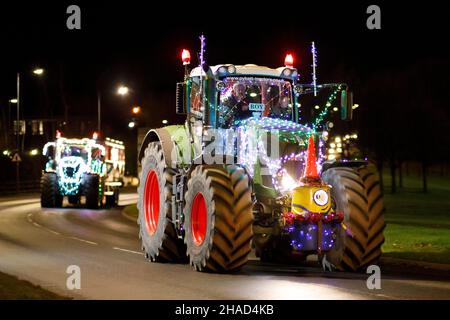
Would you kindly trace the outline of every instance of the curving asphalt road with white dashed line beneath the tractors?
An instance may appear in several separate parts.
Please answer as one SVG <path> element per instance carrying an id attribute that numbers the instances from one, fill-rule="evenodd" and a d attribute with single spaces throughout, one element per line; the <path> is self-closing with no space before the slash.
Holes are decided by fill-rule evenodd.
<path id="1" fill-rule="evenodd" d="M 136 201 L 121 195 L 120 204 Z M 39 198 L 0 199 L 0 271 L 78 299 L 450 299 L 450 280 L 389 273 L 369 290 L 367 275 L 310 266 L 262 264 L 238 274 L 199 273 L 188 265 L 150 263 L 138 227 L 120 209 L 41 209 Z M 81 289 L 68 290 L 67 267 L 81 268 Z"/>

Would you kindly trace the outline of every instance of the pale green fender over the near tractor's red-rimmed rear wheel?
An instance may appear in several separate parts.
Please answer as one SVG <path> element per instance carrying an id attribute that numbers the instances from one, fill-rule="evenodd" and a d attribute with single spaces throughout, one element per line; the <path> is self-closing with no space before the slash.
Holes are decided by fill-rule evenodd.
<path id="1" fill-rule="evenodd" d="M 186 162 L 184 155 L 190 155 L 187 144 L 188 138 L 184 126 L 167 126 L 152 129 L 145 135 L 139 150 L 139 162 L 144 157 L 145 149 L 150 142 L 159 142 L 164 154 L 166 165 L 175 168 L 179 162 Z"/>

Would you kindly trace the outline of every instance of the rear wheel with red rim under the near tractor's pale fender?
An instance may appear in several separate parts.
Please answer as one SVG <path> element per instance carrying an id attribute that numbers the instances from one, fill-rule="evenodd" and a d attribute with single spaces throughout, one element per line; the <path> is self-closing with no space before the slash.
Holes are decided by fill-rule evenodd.
<path id="1" fill-rule="evenodd" d="M 186 246 L 172 222 L 176 171 L 166 165 L 159 142 L 149 143 L 141 163 L 137 222 L 145 256 L 153 262 L 185 262 Z"/>

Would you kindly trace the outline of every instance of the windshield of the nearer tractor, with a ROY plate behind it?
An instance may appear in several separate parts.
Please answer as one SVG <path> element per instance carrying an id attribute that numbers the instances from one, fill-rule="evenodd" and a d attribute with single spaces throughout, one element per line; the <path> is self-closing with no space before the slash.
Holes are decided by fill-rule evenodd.
<path id="1" fill-rule="evenodd" d="M 221 127 L 250 117 L 292 119 L 291 83 L 286 80 L 225 78 L 219 99 Z"/>

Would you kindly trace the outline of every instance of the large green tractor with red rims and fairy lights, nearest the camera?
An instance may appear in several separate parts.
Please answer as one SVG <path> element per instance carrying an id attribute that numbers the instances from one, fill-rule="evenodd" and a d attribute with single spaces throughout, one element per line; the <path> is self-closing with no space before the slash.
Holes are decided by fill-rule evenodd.
<path id="1" fill-rule="evenodd" d="M 202 42 L 203 44 L 203 42 Z M 189 261 L 195 270 L 233 272 L 252 249 L 262 261 L 317 255 L 327 270 L 376 263 L 384 242 L 378 174 L 367 161 L 327 161 L 319 124 L 345 84 L 302 85 L 285 67 L 200 65 L 177 84 L 186 122 L 150 130 L 139 160 L 142 250 L 156 262 Z M 314 123 L 302 124 L 300 101 L 330 90 Z"/>

